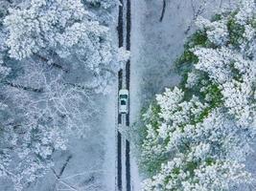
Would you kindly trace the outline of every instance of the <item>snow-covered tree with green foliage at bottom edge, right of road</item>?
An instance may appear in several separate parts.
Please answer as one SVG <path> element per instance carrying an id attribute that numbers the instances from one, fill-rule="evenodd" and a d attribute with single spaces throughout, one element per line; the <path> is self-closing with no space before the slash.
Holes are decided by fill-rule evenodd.
<path id="1" fill-rule="evenodd" d="M 206 149 L 205 149 L 206 148 Z M 244 171 L 244 165 L 232 160 L 198 161 L 199 157 L 207 155 L 207 145 L 198 145 L 197 155 L 191 153 L 194 159 L 179 155 L 163 164 L 160 172 L 151 180 L 142 184 L 144 191 L 177 190 L 177 191 L 207 191 L 227 190 L 229 183 L 240 183 L 241 180 L 251 180 Z"/>

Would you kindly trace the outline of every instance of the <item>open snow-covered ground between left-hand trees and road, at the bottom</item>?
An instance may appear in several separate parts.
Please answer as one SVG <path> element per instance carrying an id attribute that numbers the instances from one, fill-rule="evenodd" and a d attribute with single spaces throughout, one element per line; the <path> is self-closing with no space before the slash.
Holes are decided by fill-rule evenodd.
<path id="1" fill-rule="evenodd" d="M 115 182 L 115 97 L 99 98 L 104 113 L 90 122 L 91 131 L 85 138 L 71 137 L 67 151 L 57 152 L 53 168 L 57 174 L 68 161 L 60 179 L 53 171 L 31 185 L 27 191 L 114 190 Z"/>

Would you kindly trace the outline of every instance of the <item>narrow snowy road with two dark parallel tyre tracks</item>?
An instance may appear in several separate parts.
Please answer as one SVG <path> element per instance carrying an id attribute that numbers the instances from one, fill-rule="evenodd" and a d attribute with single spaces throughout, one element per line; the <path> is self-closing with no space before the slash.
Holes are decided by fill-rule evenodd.
<path id="1" fill-rule="evenodd" d="M 119 6 L 119 17 L 118 17 L 118 41 L 119 48 L 125 47 L 130 51 L 130 30 L 131 30 L 131 15 L 130 15 L 130 0 L 120 0 L 121 5 Z M 126 44 L 125 44 L 125 43 Z M 129 90 L 129 77 L 130 77 L 130 60 L 126 64 L 124 70 L 120 70 L 118 73 L 118 91 L 121 89 Z M 118 95 L 118 93 L 117 93 Z M 117 100 L 118 104 L 119 100 Z M 129 111 L 128 101 L 128 111 Z M 119 104 L 118 104 L 119 105 Z M 129 127 L 129 113 L 127 115 L 117 114 L 117 167 L 116 167 L 116 191 L 130 191 L 130 147 L 129 141 L 125 132 Z"/>

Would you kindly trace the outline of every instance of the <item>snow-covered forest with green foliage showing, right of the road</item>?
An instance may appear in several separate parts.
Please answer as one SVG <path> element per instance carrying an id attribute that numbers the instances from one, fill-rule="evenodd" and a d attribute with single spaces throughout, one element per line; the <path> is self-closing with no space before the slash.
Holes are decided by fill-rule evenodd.
<path id="1" fill-rule="evenodd" d="M 197 31 L 175 61 L 179 85 L 157 94 L 141 117 L 140 165 L 149 176 L 142 190 L 255 183 L 245 165 L 255 152 L 255 8 L 244 0 L 196 19 Z"/>

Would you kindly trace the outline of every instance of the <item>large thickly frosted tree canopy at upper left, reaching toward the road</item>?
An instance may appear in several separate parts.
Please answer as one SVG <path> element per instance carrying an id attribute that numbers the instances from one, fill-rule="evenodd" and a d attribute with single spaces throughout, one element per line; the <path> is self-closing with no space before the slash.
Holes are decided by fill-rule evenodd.
<path id="1" fill-rule="evenodd" d="M 109 29 L 95 13 L 85 10 L 81 0 L 32 0 L 10 12 L 5 26 L 12 57 L 47 55 L 51 64 L 50 55 L 56 54 L 71 65 L 83 63 L 91 78 L 88 85 L 99 88 L 98 92 L 112 82 L 119 68 L 114 61 L 118 51 L 112 46 Z"/>

